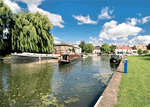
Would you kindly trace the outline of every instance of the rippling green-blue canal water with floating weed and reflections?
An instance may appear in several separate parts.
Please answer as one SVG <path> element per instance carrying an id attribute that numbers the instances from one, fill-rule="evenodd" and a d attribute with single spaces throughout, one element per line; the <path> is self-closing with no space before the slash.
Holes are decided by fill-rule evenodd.
<path id="1" fill-rule="evenodd" d="M 0 62 L 0 105 L 93 107 L 118 65 L 93 56 L 70 65 L 58 62 Z"/>

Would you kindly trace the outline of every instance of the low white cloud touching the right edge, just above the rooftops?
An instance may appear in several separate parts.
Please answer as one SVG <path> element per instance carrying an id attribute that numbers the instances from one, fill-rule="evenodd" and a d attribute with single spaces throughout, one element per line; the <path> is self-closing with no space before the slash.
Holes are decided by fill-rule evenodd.
<path id="1" fill-rule="evenodd" d="M 129 40 L 130 44 L 143 44 L 143 45 L 147 45 L 150 43 L 150 35 L 139 35 L 137 37 L 133 37 L 131 40 Z"/>

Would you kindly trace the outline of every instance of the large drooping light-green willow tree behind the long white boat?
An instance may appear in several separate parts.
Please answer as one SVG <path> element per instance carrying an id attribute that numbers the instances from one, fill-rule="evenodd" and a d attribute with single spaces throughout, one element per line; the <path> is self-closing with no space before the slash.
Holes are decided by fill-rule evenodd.
<path id="1" fill-rule="evenodd" d="M 13 25 L 12 50 L 50 53 L 53 49 L 52 24 L 47 15 L 20 12 L 14 15 Z"/>

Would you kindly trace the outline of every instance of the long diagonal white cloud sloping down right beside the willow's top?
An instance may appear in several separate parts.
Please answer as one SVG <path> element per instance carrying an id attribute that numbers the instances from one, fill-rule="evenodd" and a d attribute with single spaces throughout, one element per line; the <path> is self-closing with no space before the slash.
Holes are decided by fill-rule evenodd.
<path id="1" fill-rule="evenodd" d="M 62 25 L 62 23 L 64 23 L 64 21 L 62 20 L 61 15 L 53 14 L 48 11 L 44 11 L 44 10 L 38 8 L 37 5 L 34 5 L 34 4 L 28 5 L 28 9 L 30 12 L 33 12 L 33 13 L 39 11 L 40 13 L 47 15 L 48 19 L 54 26 L 59 26 L 60 28 L 64 28 L 64 26 Z"/>

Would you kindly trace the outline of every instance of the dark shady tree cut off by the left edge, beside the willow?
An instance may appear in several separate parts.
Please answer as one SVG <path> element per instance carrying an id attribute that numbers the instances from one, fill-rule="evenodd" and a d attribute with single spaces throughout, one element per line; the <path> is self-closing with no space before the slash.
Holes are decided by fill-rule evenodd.
<path id="1" fill-rule="evenodd" d="M 7 53 L 11 53 L 11 27 L 12 27 L 12 11 L 0 0 L 0 56 Z M 3 32 L 7 30 L 7 33 Z M 3 40 L 7 38 L 7 41 Z"/>

